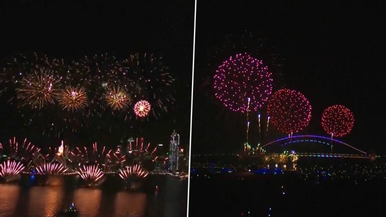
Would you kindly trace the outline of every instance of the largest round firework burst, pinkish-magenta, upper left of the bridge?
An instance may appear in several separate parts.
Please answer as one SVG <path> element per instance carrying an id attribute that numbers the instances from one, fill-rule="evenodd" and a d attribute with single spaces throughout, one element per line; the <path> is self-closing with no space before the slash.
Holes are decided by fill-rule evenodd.
<path id="1" fill-rule="evenodd" d="M 232 111 L 257 111 L 272 93 L 271 75 L 262 61 L 238 54 L 216 70 L 215 96 Z"/>

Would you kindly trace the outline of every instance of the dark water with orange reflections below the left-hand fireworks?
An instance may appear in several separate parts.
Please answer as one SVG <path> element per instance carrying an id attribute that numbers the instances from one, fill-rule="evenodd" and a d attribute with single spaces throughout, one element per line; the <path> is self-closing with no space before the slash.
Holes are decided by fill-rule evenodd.
<path id="1" fill-rule="evenodd" d="M 136 192 L 114 185 L 115 181 L 109 177 L 98 188 L 76 187 L 73 178 L 65 177 L 52 177 L 48 186 L 0 184 L 0 216 L 53 217 L 71 202 L 79 209 L 79 217 L 186 216 L 187 180 L 150 175 Z"/>

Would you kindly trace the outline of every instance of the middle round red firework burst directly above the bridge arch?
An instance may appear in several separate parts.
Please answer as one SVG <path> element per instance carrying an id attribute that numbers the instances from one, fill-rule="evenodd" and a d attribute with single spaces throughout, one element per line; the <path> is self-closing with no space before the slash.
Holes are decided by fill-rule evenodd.
<path id="1" fill-rule="evenodd" d="M 310 123 L 311 105 L 302 93 L 282 89 L 272 95 L 267 113 L 278 130 L 292 134 L 304 129 Z"/>

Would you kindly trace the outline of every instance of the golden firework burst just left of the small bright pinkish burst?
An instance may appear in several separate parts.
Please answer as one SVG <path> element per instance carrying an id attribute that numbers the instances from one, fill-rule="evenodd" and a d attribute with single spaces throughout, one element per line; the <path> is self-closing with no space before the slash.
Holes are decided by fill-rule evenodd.
<path id="1" fill-rule="evenodd" d="M 129 94 L 123 89 L 118 87 L 112 87 L 107 90 L 106 93 L 107 105 L 113 110 L 126 109 L 131 102 Z"/>

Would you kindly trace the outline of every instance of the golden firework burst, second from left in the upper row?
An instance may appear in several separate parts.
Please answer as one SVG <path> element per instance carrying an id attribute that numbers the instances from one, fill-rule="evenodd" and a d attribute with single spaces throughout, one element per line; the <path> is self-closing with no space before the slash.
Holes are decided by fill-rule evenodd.
<path id="1" fill-rule="evenodd" d="M 68 111 L 79 110 L 87 106 L 87 94 L 82 88 L 67 87 L 59 94 L 58 102 Z"/>

